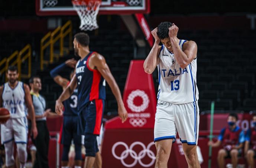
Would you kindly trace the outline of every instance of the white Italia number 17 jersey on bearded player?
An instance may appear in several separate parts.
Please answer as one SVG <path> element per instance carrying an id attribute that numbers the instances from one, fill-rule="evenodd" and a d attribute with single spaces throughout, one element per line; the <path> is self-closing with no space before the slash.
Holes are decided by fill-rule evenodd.
<path id="1" fill-rule="evenodd" d="M 18 82 L 16 87 L 12 89 L 8 82 L 4 83 L 2 94 L 3 107 L 8 109 L 11 118 L 20 118 L 25 114 L 25 91 L 23 82 Z"/>

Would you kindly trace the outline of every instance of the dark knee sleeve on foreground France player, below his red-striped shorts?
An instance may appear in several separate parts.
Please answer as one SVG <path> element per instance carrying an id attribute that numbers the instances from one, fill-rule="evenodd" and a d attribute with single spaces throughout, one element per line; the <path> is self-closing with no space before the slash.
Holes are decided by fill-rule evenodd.
<path id="1" fill-rule="evenodd" d="M 85 156 L 95 157 L 96 148 L 95 148 L 96 135 L 85 134 Z"/>

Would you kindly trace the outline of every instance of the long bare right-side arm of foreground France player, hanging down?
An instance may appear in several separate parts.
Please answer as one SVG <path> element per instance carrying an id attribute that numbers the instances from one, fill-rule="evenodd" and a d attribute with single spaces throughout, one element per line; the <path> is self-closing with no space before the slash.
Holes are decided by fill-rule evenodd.
<path id="1" fill-rule="evenodd" d="M 125 120 L 128 118 L 128 114 L 124 107 L 124 102 L 122 101 L 119 87 L 116 84 L 115 78 L 110 72 L 108 65 L 106 64 L 105 58 L 98 53 L 95 53 L 90 58 L 89 67 L 91 69 L 96 68 L 101 73 L 106 82 L 108 82 L 108 85 L 111 88 L 112 93 L 114 94 L 118 104 L 118 115 L 122 119 L 122 122 L 125 122 Z"/>

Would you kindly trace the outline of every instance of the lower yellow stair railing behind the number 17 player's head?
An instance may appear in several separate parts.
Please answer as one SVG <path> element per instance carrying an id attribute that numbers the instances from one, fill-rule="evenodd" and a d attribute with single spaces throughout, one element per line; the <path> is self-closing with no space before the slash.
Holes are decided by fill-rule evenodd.
<path id="1" fill-rule="evenodd" d="M 24 55 L 24 53 L 26 53 L 26 55 Z M 1 60 L 0 67 L 4 64 L 5 64 L 5 66 L 0 70 L 0 75 L 4 74 L 4 72 L 6 72 L 9 65 L 17 65 L 18 73 L 20 74 L 19 80 L 21 78 L 30 78 L 31 77 L 31 56 L 32 56 L 31 45 L 29 45 L 29 44 L 27 44 L 22 50 L 20 50 L 20 52 L 18 50 L 16 50 L 14 53 L 12 53 L 12 55 Z M 13 59 L 15 59 L 15 60 L 12 62 Z M 27 71 L 27 74 L 23 74 L 21 71 L 22 63 L 26 59 L 28 59 L 28 71 Z M 5 78 L 5 80 L 7 81 L 7 78 Z"/>

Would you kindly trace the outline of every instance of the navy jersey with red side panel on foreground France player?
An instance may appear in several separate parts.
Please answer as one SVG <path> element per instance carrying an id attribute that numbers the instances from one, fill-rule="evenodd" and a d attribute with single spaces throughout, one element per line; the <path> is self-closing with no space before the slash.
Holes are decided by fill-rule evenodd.
<path id="1" fill-rule="evenodd" d="M 78 111 L 81 111 L 88 102 L 106 99 L 105 79 L 98 70 L 89 67 L 89 59 L 93 54 L 95 52 L 90 52 L 76 64 Z"/>

